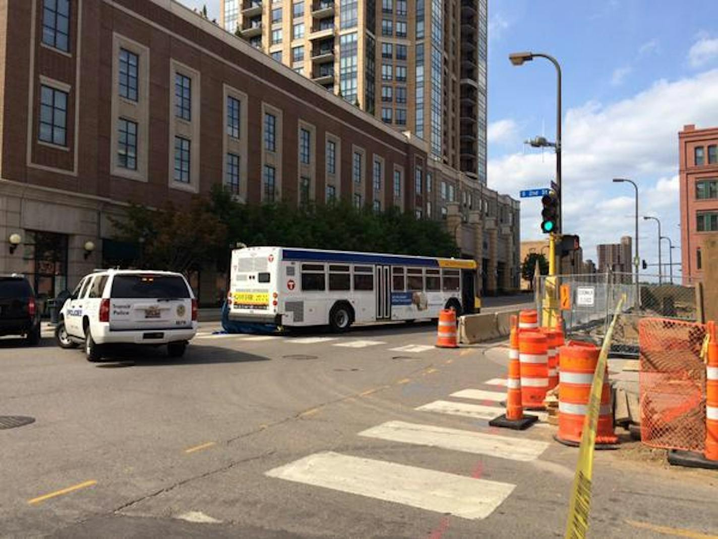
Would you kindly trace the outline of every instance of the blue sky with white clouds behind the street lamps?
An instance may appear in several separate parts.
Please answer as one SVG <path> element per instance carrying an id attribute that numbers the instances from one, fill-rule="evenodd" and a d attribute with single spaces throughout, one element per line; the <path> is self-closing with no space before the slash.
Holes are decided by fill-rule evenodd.
<path id="1" fill-rule="evenodd" d="M 182 1 L 219 17 L 219 0 Z M 715 0 L 489 0 L 489 19 L 489 185 L 518 198 L 554 178 L 554 155 L 523 144 L 554 139 L 554 68 L 508 61 L 548 52 L 564 78 L 564 231 L 594 260 L 596 244 L 633 235 L 633 188 L 611 183 L 623 176 L 639 185 L 641 213 L 679 245 L 677 132 L 718 125 Z M 539 206 L 521 203 L 524 240 L 542 237 Z M 640 222 L 640 241 L 656 262 L 655 223 Z"/>

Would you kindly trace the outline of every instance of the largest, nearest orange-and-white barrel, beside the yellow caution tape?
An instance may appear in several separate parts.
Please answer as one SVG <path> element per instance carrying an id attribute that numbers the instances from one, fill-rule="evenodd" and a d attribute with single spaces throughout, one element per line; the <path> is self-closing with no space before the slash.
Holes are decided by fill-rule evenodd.
<path id="1" fill-rule="evenodd" d="M 555 438 L 567 446 L 578 446 L 588 413 L 591 384 L 601 349 L 589 343 L 569 341 L 559 349 L 559 432 Z M 612 449 L 618 438 L 613 433 L 613 408 L 606 368 L 596 430 L 596 448 Z"/>

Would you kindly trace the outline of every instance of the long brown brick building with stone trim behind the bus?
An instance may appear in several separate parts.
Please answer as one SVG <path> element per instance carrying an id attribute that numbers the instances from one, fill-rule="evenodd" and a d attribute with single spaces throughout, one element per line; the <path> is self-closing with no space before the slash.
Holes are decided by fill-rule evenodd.
<path id="1" fill-rule="evenodd" d="M 113 218 L 129 202 L 182 205 L 218 183 L 246 203 L 445 218 L 485 293 L 518 287 L 518 201 L 182 4 L 9 0 L 0 20 L 0 236 L 21 239 L 0 272 L 40 294 L 122 263 Z M 204 303 L 221 280 L 193 277 Z"/>

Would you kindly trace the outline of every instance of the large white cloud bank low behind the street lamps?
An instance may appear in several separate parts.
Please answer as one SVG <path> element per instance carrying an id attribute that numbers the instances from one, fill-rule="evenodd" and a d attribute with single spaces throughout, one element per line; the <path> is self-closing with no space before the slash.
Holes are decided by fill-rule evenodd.
<path id="1" fill-rule="evenodd" d="M 581 236 L 584 258 L 596 259 L 596 244 L 633 235 L 633 188 L 613 184 L 616 177 L 638 183 L 641 214 L 661 216 L 663 234 L 679 244 L 677 133 L 684 124 L 711 126 L 716 118 L 718 69 L 671 82 L 659 80 L 622 101 L 589 101 L 566 112 L 564 231 Z M 549 185 L 555 167 L 548 152 L 491 157 L 488 181 L 490 187 L 516 197 L 521 189 Z M 541 238 L 540 207 L 538 200 L 522 199 L 522 239 Z M 650 260 L 656 258 L 656 241 L 655 231 L 647 226 L 640 222 L 641 255 Z"/>

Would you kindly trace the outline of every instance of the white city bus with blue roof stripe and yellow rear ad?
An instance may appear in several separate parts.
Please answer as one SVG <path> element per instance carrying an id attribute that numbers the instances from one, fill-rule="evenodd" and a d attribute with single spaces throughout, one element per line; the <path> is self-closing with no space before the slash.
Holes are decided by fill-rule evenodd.
<path id="1" fill-rule="evenodd" d="M 322 326 L 437 318 L 474 312 L 476 262 L 288 247 L 232 252 L 228 318 Z"/>

